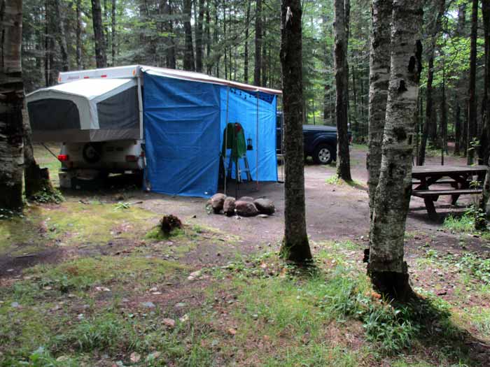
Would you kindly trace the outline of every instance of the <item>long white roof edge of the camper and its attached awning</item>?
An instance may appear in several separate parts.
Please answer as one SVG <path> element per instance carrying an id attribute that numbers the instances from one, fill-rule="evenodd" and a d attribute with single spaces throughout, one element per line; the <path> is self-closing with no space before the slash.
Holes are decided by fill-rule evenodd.
<path id="1" fill-rule="evenodd" d="M 267 94 L 282 94 L 279 89 L 270 89 L 264 87 L 256 87 L 255 85 L 248 85 L 241 82 L 232 82 L 230 80 L 214 78 L 211 75 L 194 73 L 192 71 L 183 71 L 176 69 L 156 68 L 153 66 L 144 65 L 130 65 L 130 66 L 117 66 L 113 68 L 105 69 L 93 69 L 83 71 L 68 71 L 59 73 L 58 82 L 66 83 L 73 82 L 74 80 L 91 80 L 91 79 L 114 79 L 114 78 L 134 78 L 142 72 L 152 73 L 154 75 L 162 75 L 167 78 L 176 78 L 183 80 L 193 80 L 195 82 L 209 82 L 218 85 L 228 85 L 238 89 L 248 90 L 250 92 L 263 92 Z"/>

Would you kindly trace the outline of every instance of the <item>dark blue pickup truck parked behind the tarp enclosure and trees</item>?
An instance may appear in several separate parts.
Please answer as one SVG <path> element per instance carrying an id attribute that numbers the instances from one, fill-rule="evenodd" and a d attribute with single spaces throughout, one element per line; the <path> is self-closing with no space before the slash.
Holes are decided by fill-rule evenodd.
<path id="1" fill-rule="evenodd" d="M 283 120 L 277 115 L 277 154 L 282 154 Z M 349 142 L 351 131 L 349 131 Z M 311 157 L 316 164 L 329 164 L 337 159 L 337 127 L 303 125 L 304 157 Z"/>

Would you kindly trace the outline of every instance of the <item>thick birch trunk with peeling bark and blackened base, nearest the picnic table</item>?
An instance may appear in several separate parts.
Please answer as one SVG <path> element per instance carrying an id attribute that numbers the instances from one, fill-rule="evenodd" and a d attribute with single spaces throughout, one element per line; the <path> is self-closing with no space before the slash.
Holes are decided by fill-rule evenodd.
<path id="1" fill-rule="evenodd" d="M 412 292 L 403 261 L 412 192 L 414 113 L 419 96 L 423 0 L 393 0 L 391 62 L 379 184 L 367 273 L 378 292 L 404 300 Z"/>

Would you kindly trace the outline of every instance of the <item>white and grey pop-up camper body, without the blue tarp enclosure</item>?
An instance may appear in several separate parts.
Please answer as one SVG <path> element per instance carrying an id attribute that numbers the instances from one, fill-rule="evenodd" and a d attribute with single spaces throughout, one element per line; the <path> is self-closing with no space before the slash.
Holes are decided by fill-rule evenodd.
<path id="1" fill-rule="evenodd" d="M 32 140 L 62 143 L 60 187 L 145 166 L 139 66 L 60 73 L 26 96 Z"/>

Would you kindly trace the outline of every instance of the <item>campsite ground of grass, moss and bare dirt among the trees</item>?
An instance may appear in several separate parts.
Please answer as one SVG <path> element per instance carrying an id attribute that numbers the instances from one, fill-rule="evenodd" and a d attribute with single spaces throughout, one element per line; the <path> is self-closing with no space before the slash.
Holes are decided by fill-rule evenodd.
<path id="1" fill-rule="evenodd" d="M 281 183 L 240 188 L 274 201 L 267 218 L 207 215 L 204 199 L 114 177 L 0 220 L 0 366 L 489 366 L 490 236 L 472 231 L 469 199 L 437 206 L 437 223 L 412 199 L 405 254 L 419 300 L 388 304 L 363 264 L 366 151 L 351 149 L 354 185 L 334 166 L 305 167 L 307 270 L 277 256 Z M 56 185 L 57 161 L 36 157 Z M 183 229 L 162 237 L 165 214 Z"/>

